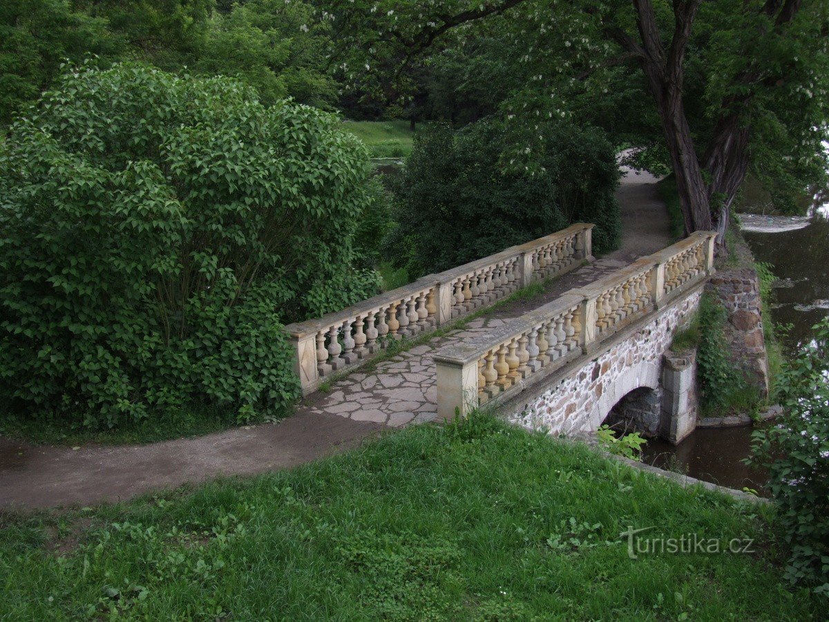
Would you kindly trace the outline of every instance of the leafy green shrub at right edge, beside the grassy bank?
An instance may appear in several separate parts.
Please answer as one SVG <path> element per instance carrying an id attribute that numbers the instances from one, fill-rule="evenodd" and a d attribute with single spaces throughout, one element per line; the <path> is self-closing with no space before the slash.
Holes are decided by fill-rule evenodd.
<path id="1" fill-rule="evenodd" d="M 784 415 L 754 432 L 752 461 L 781 507 L 788 580 L 829 597 L 829 320 L 812 332 L 778 377 Z"/>

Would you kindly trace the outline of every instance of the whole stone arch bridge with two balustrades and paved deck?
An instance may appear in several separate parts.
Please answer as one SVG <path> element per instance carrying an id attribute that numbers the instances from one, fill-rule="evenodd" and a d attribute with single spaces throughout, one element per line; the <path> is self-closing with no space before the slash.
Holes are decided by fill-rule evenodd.
<path id="1" fill-rule="evenodd" d="M 303 391 L 329 390 L 305 407 L 392 426 L 492 408 L 552 434 L 608 421 L 678 442 L 696 424 L 696 369 L 694 353 L 671 352 L 671 340 L 714 271 L 715 234 L 623 265 L 594 262 L 591 229 L 574 225 L 286 327 Z M 555 295 L 537 309 L 464 319 L 551 278 Z M 415 337 L 416 347 L 360 369 Z"/>

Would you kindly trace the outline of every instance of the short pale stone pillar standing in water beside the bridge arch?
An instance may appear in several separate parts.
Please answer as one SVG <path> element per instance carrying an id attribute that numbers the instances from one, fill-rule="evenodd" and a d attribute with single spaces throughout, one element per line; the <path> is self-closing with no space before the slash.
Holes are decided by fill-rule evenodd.
<path id="1" fill-rule="evenodd" d="M 659 435 L 673 445 L 696 428 L 696 351 L 665 352 Z"/>

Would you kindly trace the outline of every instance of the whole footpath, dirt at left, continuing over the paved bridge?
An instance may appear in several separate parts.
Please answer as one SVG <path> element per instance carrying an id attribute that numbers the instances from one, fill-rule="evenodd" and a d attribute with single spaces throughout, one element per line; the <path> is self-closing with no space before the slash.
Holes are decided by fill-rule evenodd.
<path id="1" fill-rule="evenodd" d="M 371 373 L 358 370 L 334 383 L 329 393 L 309 396 L 295 415 L 278 424 L 153 445 L 84 445 L 76 450 L 0 438 L 0 508 L 114 502 L 221 475 L 283 469 L 354 447 L 381 430 L 433 420 L 434 349 L 486 333 L 670 243 L 655 181 L 647 173 L 623 178 L 617 193 L 623 221 L 619 250 L 556 280 L 540 297 L 499 308 L 379 364 Z"/>

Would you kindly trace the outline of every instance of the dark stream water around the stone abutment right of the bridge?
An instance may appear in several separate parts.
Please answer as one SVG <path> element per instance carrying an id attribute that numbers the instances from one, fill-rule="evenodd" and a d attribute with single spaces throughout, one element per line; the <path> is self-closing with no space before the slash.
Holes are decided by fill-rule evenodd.
<path id="1" fill-rule="evenodd" d="M 829 315 L 829 206 L 817 208 L 810 224 L 794 231 L 744 231 L 755 259 L 773 265 L 778 277 L 771 309 L 775 323 L 788 325 L 780 333 L 783 350 L 793 352 L 812 339 L 812 326 Z M 662 469 L 685 472 L 696 479 L 727 488 L 753 488 L 764 493 L 767 476 L 742 460 L 751 449 L 750 425 L 695 430 L 679 445 L 649 441 L 642 459 Z"/>

